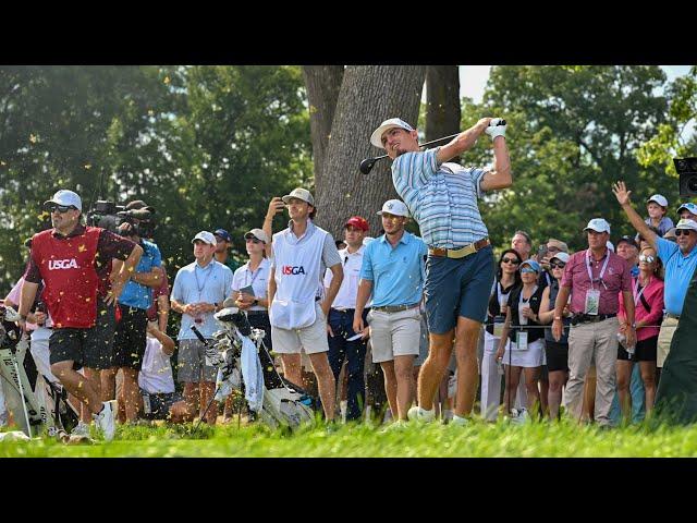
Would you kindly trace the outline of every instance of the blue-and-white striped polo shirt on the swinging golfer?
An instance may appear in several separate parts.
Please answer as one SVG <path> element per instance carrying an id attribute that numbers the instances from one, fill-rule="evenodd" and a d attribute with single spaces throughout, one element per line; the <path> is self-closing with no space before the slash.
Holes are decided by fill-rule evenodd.
<path id="1" fill-rule="evenodd" d="M 438 165 L 440 147 L 405 153 L 392 163 L 392 183 L 432 247 L 456 248 L 489 235 L 477 198 L 486 171 Z"/>

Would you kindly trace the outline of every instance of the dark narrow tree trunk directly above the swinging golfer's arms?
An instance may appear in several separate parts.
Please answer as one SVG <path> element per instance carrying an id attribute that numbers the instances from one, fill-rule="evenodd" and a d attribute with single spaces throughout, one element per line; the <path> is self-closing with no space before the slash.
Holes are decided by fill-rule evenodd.
<path id="1" fill-rule="evenodd" d="M 426 70 L 426 142 L 460 132 L 460 72 L 457 65 Z"/>

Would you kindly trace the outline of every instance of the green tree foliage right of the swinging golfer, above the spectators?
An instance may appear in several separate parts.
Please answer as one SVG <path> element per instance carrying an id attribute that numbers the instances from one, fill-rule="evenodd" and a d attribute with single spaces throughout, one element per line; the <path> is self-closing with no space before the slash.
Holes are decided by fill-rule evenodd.
<path id="1" fill-rule="evenodd" d="M 514 185 L 480 206 L 494 244 L 508 246 L 524 229 L 536 243 L 554 236 L 584 248 L 582 230 L 594 217 L 611 223 L 613 239 L 632 233 L 611 192 L 615 180 L 637 203 L 656 192 L 676 202 L 677 183 L 635 157 L 665 121 L 667 98 L 656 94 L 664 82 L 658 66 L 492 68 L 482 104 L 465 100 L 462 112 L 463 127 L 499 114 L 510 124 Z M 480 139 L 464 161 L 491 159 L 490 143 Z"/>

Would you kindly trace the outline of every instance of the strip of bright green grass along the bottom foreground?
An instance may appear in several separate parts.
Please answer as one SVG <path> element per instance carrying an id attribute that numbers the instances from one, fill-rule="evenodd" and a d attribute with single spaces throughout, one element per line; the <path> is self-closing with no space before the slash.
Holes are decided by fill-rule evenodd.
<path id="1" fill-rule="evenodd" d="M 304 427 L 289 435 L 258 424 L 119 427 L 111 442 L 66 446 L 51 439 L 0 442 L 0 457 L 27 458 L 669 458 L 697 455 L 697 427 L 612 430 L 570 422 L 514 426 L 474 423 L 384 427 Z M 201 434 L 203 433 L 203 434 Z"/>

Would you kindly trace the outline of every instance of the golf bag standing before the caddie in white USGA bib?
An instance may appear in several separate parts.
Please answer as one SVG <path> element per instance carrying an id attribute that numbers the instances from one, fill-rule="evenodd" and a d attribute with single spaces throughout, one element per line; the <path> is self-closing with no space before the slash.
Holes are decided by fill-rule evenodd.
<path id="1" fill-rule="evenodd" d="M 246 314 L 236 307 L 223 308 L 215 318 L 223 329 L 213 335 L 216 342 L 207 348 L 206 355 L 219 368 L 217 390 L 222 392 L 221 396 L 227 396 L 224 392 L 230 393 L 232 389 L 241 390 L 244 382 L 249 409 L 269 427 L 285 425 L 296 428 L 302 423 L 313 422 L 316 399 L 277 372 L 264 343 L 265 331 L 253 329 Z M 256 365 L 247 363 L 245 366 L 243 361 L 250 362 L 252 357 L 256 358 L 253 362 Z M 258 381 L 250 368 L 254 366 L 261 384 L 258 390 L 250 391 L 252 381 Z"/>

